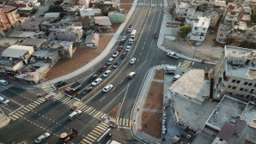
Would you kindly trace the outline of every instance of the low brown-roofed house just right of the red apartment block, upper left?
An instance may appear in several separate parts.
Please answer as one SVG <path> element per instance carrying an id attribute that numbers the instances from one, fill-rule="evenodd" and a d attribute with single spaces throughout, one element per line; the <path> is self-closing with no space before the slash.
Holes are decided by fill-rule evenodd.
<path id="1" fill-rule="evenodd" d="M 27 21 L 21 23 L 21 28 L 24 31 L 40 31 L 40 24 L 45 21 L 45 18 L 42 16 L 39 17 L 29 17 Z"/>

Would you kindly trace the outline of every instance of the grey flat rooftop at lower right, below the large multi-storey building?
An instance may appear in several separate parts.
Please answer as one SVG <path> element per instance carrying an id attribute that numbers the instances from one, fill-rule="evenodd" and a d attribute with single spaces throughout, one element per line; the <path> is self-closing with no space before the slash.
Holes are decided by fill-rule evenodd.
<path id="1" fill-rule="evenodd" d="M 216 105 L 215 111 L 217 112 L 214 111 L 212 113 L 207 123 L 221 129 L 225 123 L 234 121 L 234 117 L 241 116 L 246 105 L 247 103 L 242 102 L 241 100 L 225 96 L 221 102 Z"/>

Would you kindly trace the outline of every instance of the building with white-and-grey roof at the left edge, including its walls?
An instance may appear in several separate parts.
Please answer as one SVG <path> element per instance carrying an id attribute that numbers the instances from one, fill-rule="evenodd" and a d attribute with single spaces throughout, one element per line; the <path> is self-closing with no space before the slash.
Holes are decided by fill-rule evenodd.
<path id="1" fill-rule="evenodd" d="M 4 50 L 0 57 L 0 72 L 15 74 L 24 68 L 34 53 L 33 46 L 11 45 Z"/>

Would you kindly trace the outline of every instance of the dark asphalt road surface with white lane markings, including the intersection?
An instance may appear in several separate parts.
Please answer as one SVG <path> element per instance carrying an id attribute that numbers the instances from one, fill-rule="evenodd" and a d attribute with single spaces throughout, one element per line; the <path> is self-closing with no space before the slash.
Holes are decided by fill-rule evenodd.
<path id="1" fill-rule="evenodd" d="M 154 0 L 151 4 L 150 3 L 149 0 L 138 0 L 137 8 L 125 26 L 125 28 L 127 28 L 129 24 L 132 24 L 134 29 L 137 30 L 137 33 L 140 32 L 140 37 L 137 38 L 137 43 L 135 43 L 136 45 L 132 46 L 132 50 L 126 57 L 129 58 L 129 60 L 131 57 L 136 57 L 137 62 L 130 64 L 129 61 L 121 59 L 121 54 L 119 54 L 119 57 L 115 58 L 115 62 L 119 61 L 121 66 L 119 66 L 118 69 L 113 69 L 112 66 L 108 67 L 108 69 L 112 70 L 112 75 L 114 76 L 113 80 L 108 80 L 108 83 L 113 84 L 113 89 L 108 93 L 103 93 L 101 91 L 96 92 L 94 97 L 86 102 L 86 105 L 93 107 L 97 111 L 107 113 L 108 111 L 111 111 L 115 105 L 120 104 L 121 109 L 118 117 L 131 120 L 131 110 L 147 71 L 155 65 L 178 65 L 179 62 L 183 63 L 185 61 L 181 58 L 174 59 L 167 57 L 165 52 L 157 48 L 157 39 L 154 39 L 153 35 L 160 31 L 164 6 L 162 0 Z M 147 14 L 149 14 L 148 17 L 146 16 Z M 130 33 L 127 33 L 126 29 L 120 34 L 120 39 L 123 35 L 130 37 Z M 77 75 L 68 80 L 68 83 L 71 84 L 75 81 L 81 81 L 82 89 L 88 87 L 90 84 L 88 82 L 88 77 L 93 74 L 102 75 L 98 72 L 98 69 L 112 56 L 113 51 L 117 50 L 118 45 L 119 42 L 114 45 L 109 56 L 104 57 L 101 63 L 97 63 L 93 69 L 88 69 L 88 71 L 82 75 Z M 128 39 L 125 40 L 124 47 L 127 45 Z M 124 51 L 125 49 L 122 52 Z M 194 63 L 192 67 L 209 68 L 210 66 L 202 63 Z M 119 71 L 119 73 L 114 73 L 115 70 Z M 133 79 L 128 79 L 127 75 L 131 71 L 136 72 L 137 75 Z M 102 79 L 103 81 L 98 87 L 107 85 L 104 81 L 108 78 Z M 82 89 L 80 90 L 80 93 L 82 92 Z M 1 105 L 3 111 L 7 114 L 19 111 L 27 105 L 30 105 L 31 107 L 31 103 L 39 100 L 36 94 L 40 93 L 38 90 L 27 91 L 22 88 L 11 86 L 0 87 L 0 90 L 1 95 L 11 100 L 9 105 Z M 27 109 L 29 109 L 29 106 Z M 1 129 L 0 142 L 12 143 L 27 141 L 28 143 L 33 143 L 36 137 L 46 131 L 50 131 L 52 132 L 52 136 L 47 139 L 46 142 L 57 143 L 58 135 L 75 128 L 80 131 L 80 134 L 76 135 L 70 142 L 78 143 L 99 124 L 99 121 L 85 112 L 82 112 L 82 115 L 73 121 L 70 121 L 68 119 L 70 112 L 70 106 L 64 105 L 58 100 L 45 101 L 42 104 L 35 106 L 33 110 L 27 112 L 27 114 L 22 117 L 16 118 L 15 121 L 9 123 L 7 127 Z M 131 135 L 130 128 L 125 127 L 125 129 L 123 129 L 122 127 L 119 127 L 119 129 L 112 129 L 110 132 L 113 134 L 113 139 L 121 141 L 122 143 L 137 143 Z M 106 143 L 107 138 L 103 138 L 100 142 Z"/>

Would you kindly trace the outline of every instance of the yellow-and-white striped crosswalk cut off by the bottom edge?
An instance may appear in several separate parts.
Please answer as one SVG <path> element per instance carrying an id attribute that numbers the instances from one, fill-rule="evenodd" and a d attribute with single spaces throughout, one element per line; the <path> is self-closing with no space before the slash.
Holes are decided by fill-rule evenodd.
<path id="1" fill-rule="evenodd" d="M 80 144 L 93 144 L 97 143 L 99 139 L 106 135 L 110 130 L 109 125 L 106 123 L 99 123 L 88 135 L 84 136 Z"/>

